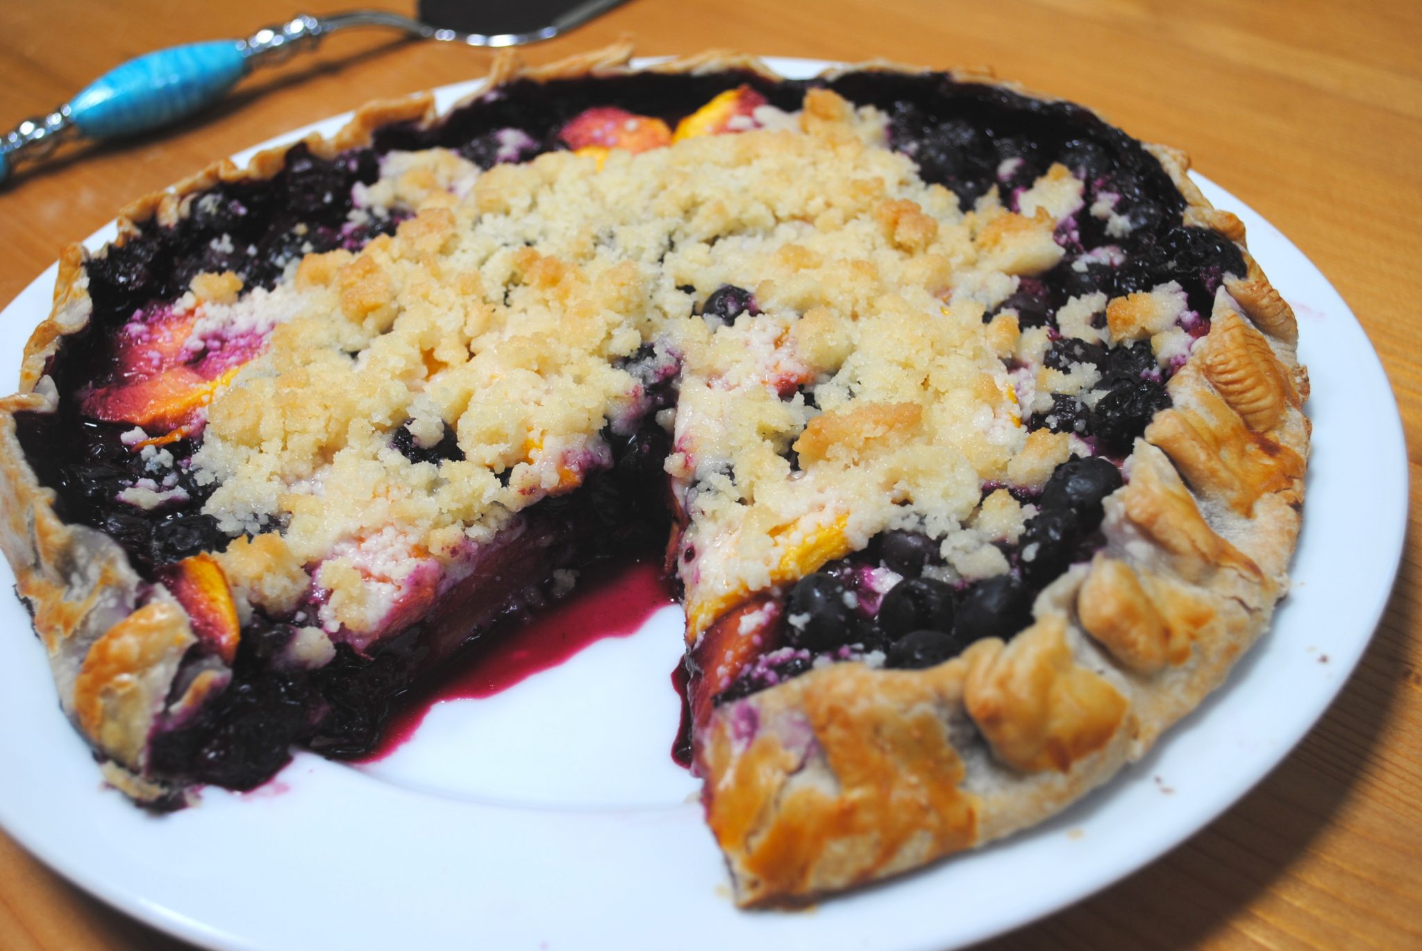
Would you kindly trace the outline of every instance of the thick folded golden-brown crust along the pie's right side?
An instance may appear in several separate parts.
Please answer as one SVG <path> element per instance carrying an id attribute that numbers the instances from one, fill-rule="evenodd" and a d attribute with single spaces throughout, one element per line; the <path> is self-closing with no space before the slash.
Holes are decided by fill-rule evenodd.
<path id="1" fill-rule="evenodd" d="M 1106 500 L 1105 549 L 1010 644 L 926 671 L 833 665 L 717 709 L 698 741 L 705 805 L 739 904 L 806 901 L 1041 822 L 1139 759 L 1267 628 L 1308 456 L 1297 326 L 1185 155 L 1146 148 L 1185 223 L 1234 242 L 1247 273 L 1224 281 L 1173 408 Z"/>

